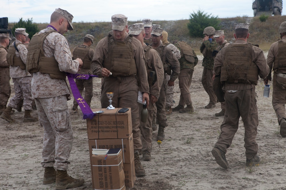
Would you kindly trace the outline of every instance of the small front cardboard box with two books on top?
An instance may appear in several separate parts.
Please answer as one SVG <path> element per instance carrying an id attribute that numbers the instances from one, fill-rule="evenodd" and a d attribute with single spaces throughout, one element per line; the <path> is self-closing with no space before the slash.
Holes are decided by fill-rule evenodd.
<path id="1" fill-rule="evenodd" d="M 94 189 L 125 190 L 122 150 L 118 155 L 92 155 Z"/>

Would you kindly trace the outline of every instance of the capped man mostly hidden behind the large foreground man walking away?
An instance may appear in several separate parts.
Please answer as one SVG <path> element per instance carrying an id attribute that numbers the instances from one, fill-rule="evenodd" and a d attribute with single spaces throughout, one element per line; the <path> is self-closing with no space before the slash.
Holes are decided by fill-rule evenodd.
<path id="1" fill-rule="evenodd" d="M 213 55 L 216 56 L 217 53 L 223 49 L 223 47 L 228 46 L 230 43 L 225 40 L 225 33 L 223 30 L 215 31 L 214 35 L 215 41 L 217 42 L 218 46 L 215 51 L 213 51 Z M 215 80 L 215 73 L 212 76 L 212 80 Z M 215 113 L 215 116 L 220 117 L 225 115 L 225 102 L 221 102 L 221 111 L 219 113 Z"/>

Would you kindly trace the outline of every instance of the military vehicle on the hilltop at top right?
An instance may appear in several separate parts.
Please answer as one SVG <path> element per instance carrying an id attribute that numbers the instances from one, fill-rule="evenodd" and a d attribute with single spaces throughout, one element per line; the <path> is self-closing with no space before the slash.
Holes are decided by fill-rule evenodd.
<path id="1" fill-rule="evenodd" d="M 281 15 L 282 0 L 253 0 L 252 9 L 255 17 L 261 15 Z"/>

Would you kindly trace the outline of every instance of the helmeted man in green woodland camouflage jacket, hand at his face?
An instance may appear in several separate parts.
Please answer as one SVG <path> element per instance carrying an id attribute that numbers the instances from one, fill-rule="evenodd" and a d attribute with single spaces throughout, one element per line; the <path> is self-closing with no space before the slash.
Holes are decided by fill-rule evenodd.
<path id="1" fill-rule="evenodd" d="M 200 46 L 200 52 L 203 54 L 204 59 L 202 60 L 202 66 L 204 70 L 202 71 L 202 86 L 208 96 L 210 97 L 210 101 L 208 105 L 204 108 L 211 109 L 215 107 L 217 103 L 217 96 L 212 89 L 212 75 L 213 75 L 213 66 L 214 66 L 214 57 L 212 56 L 212 52 L 217 48 L 217 42 L 212 40 L 215 33 L 215 28 L 212 26 L 208 26 L 204 29 L 204 38 L 202 45 Z M 209 39 L 212 41 L 210 42 Z"/>

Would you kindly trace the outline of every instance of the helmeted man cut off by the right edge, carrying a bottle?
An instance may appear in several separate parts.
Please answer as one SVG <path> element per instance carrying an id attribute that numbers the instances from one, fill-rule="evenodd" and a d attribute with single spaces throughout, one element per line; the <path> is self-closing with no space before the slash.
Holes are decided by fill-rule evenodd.
<path id="1" fill-rule="evenodd" d="M 268 77 L 264 79 L 264 84 L 271 81 L 271 70 L 273 68 L 272 105 L 280 125 L 280 134 L 282 137 L 286 137 L 286 22 L 281 23 L 279 34 L 281 40 L 274 42 L 268 52 L 267 64 L 270 72 Z"/>

